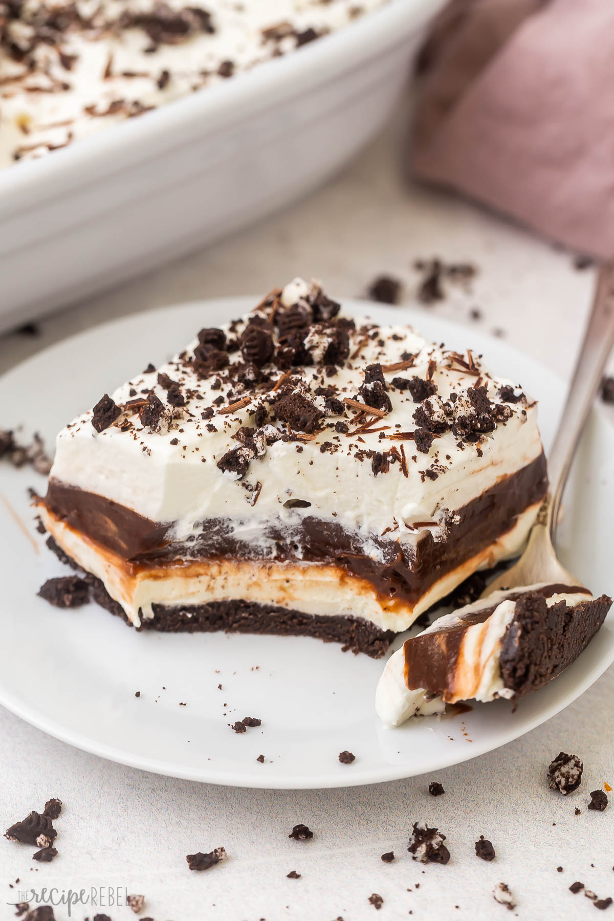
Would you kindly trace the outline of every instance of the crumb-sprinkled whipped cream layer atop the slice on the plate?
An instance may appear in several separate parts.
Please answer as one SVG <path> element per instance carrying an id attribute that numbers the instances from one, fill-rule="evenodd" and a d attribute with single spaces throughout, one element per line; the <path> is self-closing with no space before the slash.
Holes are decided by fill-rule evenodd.
<path id="1" fill-rule="evenodd" d="M 321 320 L 330 305 L 316 283 L 295 280 L 222 332 L 203 331 L 211 342 L 194 340 L 114 391 L 110 425 L 97 431 L 88 411 L 66 426 L 52 478 L 167 523 L 177 541 L 225 519 L 265 559 L 275 552 L 267 525 L 294 533 L 306 516 L 341 525 L 377 562 L 388 544 L 411 549 L 425 531 L 445 541 L 459 508 L 539 457 L 536 405 L 470 352 L 409 326 Z M 281 329 L 272 345 L 254 332 L 274 310 L 280 323 L 316 312 L 292 340 L 311 363 L 285 367 Z M 212 371 L 222 339 L 231 351 Z M 294 551 L 300 559 L 300 543 Z"/>

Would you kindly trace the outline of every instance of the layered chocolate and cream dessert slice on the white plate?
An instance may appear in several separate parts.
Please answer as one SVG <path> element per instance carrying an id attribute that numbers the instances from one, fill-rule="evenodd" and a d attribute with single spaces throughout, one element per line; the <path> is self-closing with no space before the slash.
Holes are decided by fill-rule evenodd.
<path id="1" fill-rule="evenodd" d="M 382 655 L 546 492 L 535 402 L 295 279 L 60 432 L 41 512 L 135 626 Z"/>

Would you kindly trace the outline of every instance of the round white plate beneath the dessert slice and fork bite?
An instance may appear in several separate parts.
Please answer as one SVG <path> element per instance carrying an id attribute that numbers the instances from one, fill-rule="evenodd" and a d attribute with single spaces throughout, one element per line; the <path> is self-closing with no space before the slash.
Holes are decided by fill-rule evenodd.
<path id="1" fill-rule="evenodd" d="M 52 444 L 69 418 L 135 369 L 160 363 L 200 327 L 253 303 L 240 298 L 154 310 L 54 345 L 0 381 L 2 425 L 27 420 L 24 437 L 38 429 Z M 413 322 L 438 342 L 482 351 L 493 369 L 539 397 L 548 445 L 564 393 L 550 371 L 499 340 L 424 312 L 360 302 L 348 308 L 377 321 Z M 613 453 L 614 432 L 596 412 L 568 490 L 561 552 L 563 563 L 599 593 L 614 589 Z M 516 713 L 498 701 L 462 717 L 384 729 L 374 710 L 381 660 L 304 637 L 138 634 L 95 606 L 50 607 L 36 592 L 45 578 L 66 570 L 35 532 L 29 485 L 44 489 L 29 470 L 0 468 L 0 704 L 58 739 L 122 764 L 244 787 L 346 787 L 422 774 L 539 726 L 614 660 L 610 613 L 580 659 L 521 701 Z M 246 716 L 260 717 L 261 728 L 244 735 L 229 729 Z M 353 764 L 339 763 L 345 749 L 355 754 Z"/>

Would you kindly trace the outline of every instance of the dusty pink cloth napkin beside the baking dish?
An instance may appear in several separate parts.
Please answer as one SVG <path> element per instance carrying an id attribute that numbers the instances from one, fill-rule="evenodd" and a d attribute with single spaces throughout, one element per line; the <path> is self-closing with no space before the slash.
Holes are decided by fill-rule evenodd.
<path id="1" fill-rule="evenodd" d="M 421 70 L 416 177 L 614 256 L 614 0 L 453 0 Z"/>

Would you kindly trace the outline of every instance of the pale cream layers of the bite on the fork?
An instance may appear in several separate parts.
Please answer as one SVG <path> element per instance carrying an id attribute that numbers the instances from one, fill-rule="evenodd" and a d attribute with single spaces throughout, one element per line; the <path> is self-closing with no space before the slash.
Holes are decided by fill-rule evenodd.
<path id="1" fill-rule="evenodd" d="M 525 593 L 544 589 L 547 582 L 521 586 L 514 593 Z M 509 600 L 509 591 L 492 592 L 487 598 L 474 601 L 458 608 L 457 611 L 437 618 L 433 624 L 418 636 L 442 633 L 446 630 L 462 627 L 476 612 L 485 608 L 494 611 L 487 620 L 480 624 L 471 624 L 463 636 L 456 668 L 454 671 L 453 694 L 451 702 L 458 700 L 477 700 L 488 703 L 496 697 L 514 697 L 514 692 L 504 687 L 499 655 L 501 641 L 505 630 L 514 619 L 516 600 Z M 546 604 L 551 607 L 564 601 L 568 608 L 573 608 L 583 601 L 592 600 L 588 592 L 560 592 L 550 595 Z M 405 679 L 405 653 L 400 647 L 394 652 L 377 684 L 377 715 L 388 726 L 400 726 L 413 716 L 425 716 L 442 712 L 445 703 L 441 697 L 427 699 L 430 695 L 423 688 L 408 688 Z"/>

